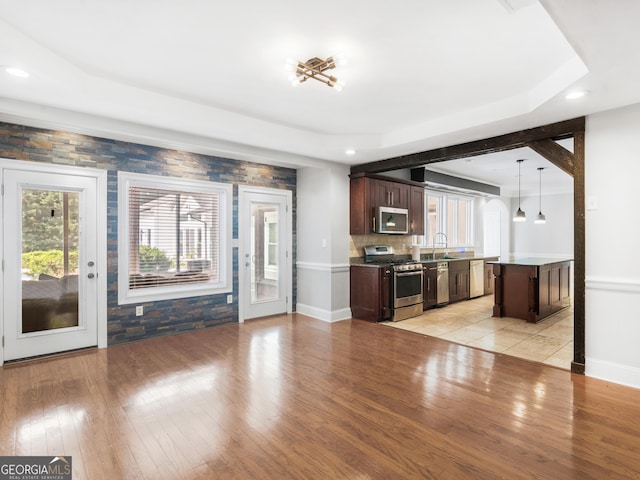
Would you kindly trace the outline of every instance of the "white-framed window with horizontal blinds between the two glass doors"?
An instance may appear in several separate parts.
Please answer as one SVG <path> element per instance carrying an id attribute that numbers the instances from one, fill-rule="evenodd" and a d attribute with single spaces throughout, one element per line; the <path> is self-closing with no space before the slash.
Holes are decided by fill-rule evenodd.
<path id="1" fill-rule="evenodd" d="M 126 215 L 119 243 L 126 278 L 119 281 L 127 294 L 121 303 L 230 290 L 230 186 L 122 173 L 119 187 L 119 212 Z"/>

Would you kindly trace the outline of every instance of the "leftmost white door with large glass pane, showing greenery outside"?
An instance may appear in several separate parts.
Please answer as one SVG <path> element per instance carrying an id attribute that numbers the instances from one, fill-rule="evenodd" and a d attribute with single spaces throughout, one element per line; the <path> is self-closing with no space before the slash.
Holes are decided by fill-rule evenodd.
<path id="1" fill-rule="evenodd" d="M 3 171 L 4 359 L 97 345 L 97 180 Z"/>

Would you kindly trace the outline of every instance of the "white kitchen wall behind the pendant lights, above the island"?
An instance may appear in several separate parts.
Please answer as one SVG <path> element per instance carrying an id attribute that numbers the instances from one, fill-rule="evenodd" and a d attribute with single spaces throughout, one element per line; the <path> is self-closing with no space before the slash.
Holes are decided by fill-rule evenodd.
<path id="1" fill-rule="evenodd" d="M 547 223 L 536 224 L 540 211 L 538 196 L 522 197 L 522 210 L 526 222 L 513 222 L 511 217 L 518 209 L 518 199 L 511 202 L 511 251 L 518 257 L 573 258 L 573 193 L 543 195 L 542 213 Z"/>

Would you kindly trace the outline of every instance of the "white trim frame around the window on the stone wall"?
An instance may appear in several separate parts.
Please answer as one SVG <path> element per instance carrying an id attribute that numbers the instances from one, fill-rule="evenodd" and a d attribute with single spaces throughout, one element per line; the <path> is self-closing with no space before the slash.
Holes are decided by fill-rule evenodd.
<path id="1" fill-rule="evenodd" d="M 129 288 L 129 189 L 146 187 L 220 195 L 220 275 L 216 283 L 185 283 L 163 287 Z M 233 291 L 233 185 L 118 172 L 118 304 L 173 300 Z"/>

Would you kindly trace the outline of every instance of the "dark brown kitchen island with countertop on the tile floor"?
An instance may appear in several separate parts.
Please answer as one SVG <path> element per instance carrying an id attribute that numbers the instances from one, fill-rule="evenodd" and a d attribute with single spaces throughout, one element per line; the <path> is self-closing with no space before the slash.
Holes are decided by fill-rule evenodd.
<path id="1" fill-rule="evenodd" d="M 571 305 L 571 259 L 513 258 L 490 262 L 494 317 L 536 323 Z"/>

